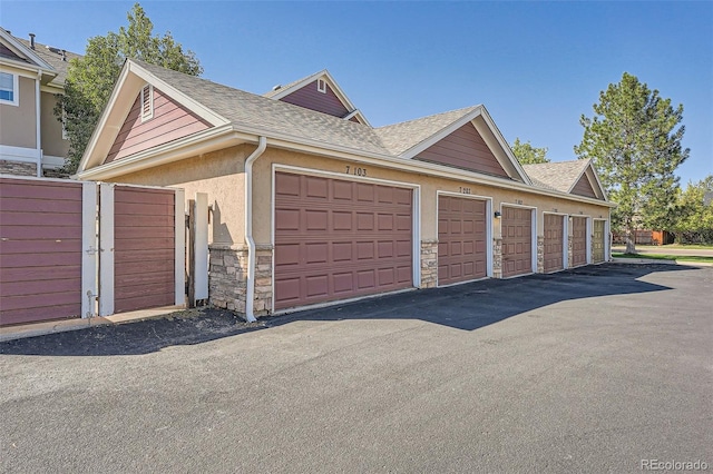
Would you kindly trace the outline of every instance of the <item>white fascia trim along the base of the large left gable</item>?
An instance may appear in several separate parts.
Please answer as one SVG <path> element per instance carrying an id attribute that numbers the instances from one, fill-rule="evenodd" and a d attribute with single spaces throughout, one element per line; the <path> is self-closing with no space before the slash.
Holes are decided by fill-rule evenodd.
<path id="1" fill-rule="evenodd" d="M 234 132 L 229 126 L 214 127 L 179 140 L 159 145 L 126 158 L 79 171 L 77 174 L 77 178 L 109 179 L 115 176 L 140 171 L 158 165 L 177 161 L 183 158 L 188 158 L 219 148 L 241 145 L 245 141 L 252 140 L 252 136 L 243 137 L 240 134 Z"/>

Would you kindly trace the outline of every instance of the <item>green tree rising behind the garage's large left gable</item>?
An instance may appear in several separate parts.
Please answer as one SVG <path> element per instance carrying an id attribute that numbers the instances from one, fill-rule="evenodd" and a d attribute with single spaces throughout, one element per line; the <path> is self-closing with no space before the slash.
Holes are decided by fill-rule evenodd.
<path id="1" fill-rule="evenodd" d="M 65 171 L 77 170 L 81 156 L 104 111 L 126 58 L 199 76 L 201 63 L 193 51 L 184 51 L 170 32 L 153 36 L 154 24 L 140 4 L 127 13 L 128 26 L 119 32 L 90 38 L 86 55 L 72 59 L 67 70 L 65 92 L 58 96 L 55 116 L 69 138 Z"/>

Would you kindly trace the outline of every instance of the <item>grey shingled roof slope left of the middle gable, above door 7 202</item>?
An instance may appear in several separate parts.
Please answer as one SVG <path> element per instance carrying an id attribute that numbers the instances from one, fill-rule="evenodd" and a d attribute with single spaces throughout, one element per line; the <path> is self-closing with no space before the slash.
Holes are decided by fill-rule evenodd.
<path id="1" fill-rule="evenodd" d="M 458 119 L 471 113 L 478 106 L 449 112 L 436 113 L 416 120 L 402 121 L 377 128 L 377 135 L 383 146 L 393 155 L 401 155 L 418 144 L 432 137 L 438 131 L 453 124 Z"/>

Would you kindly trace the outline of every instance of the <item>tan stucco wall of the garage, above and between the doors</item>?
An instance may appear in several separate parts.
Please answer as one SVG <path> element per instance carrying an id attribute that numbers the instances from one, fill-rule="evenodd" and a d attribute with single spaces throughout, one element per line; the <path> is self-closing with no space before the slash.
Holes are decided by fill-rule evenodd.
<path id="1" fill-rule="evenodd" d="M 211 243 L 242 246 L 244 244 L 244 160 L 254 149 L 254 145 L 229 148 L 114 178 L 114 181 L 182 187 L 186 190 L 186 199 L 192 198 L 196 191 L 208 192 L 208 203 L 214 206 L 211 217 Z M 267 148 L 253 166 L 253 237 L 256 245 L 272 244 L 273 164 L 329 172 L 333 177 L 358 181 L 363 178 L 345 174 L 346 166 L 350 166 L 350 169 L 356 166 L 367 170 L 368 178 L 419 185 L 422 240 L 438 238 L 436 204 L 439 190 L 461 192 L 461 188 L 468 188 L 471 196 L 491 197 L 492 209 L 499 209 L 500 205 L 508 204 L 535 207 L 537 208 L 537 235 L 540 236 L 544 234 L 543 211 L 585 215 L 594 218 L 608 216 L 607 207 L 594 204 Z M 500 219 L 492 219 L 492 216 L 487 218 L 492 221 L 492 237 L 500 238 Z"/>

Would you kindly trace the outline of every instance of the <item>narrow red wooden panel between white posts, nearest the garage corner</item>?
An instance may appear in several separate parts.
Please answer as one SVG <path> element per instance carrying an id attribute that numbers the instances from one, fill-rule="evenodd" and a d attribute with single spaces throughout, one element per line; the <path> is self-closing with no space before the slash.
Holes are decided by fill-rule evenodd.
<path id="1" fill-rule="evenodd" d="M 175 304 L 174 208 L 170 189 L 115 188 L 115 313 Z"/>

